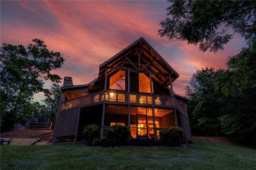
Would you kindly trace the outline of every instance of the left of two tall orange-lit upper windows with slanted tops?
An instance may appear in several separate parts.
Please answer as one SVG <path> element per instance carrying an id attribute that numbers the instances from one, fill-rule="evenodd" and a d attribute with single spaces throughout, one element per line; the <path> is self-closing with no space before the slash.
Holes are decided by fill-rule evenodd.
<path id="1" fill-rule="evenodd" d="M 109 88 L 113 90 L 125 91 L 125 71 L 118 71 L 110 77 Z"/>

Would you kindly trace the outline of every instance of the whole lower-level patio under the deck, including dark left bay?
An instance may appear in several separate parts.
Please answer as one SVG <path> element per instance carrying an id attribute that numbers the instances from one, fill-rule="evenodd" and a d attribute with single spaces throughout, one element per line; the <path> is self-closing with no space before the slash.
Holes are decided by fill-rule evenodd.
<path id="1" fill-rule="evenodd" d="M 106 104 L 105 108 L 94 106 L 81 109 L 78 134 L 88 124 L 101 126 L 101 137 L 106 136 L 110 126 L 121 124 L 130 128 L 131 139 L 158 140 L 162 129 L 177 127 L 180 120 L 175 121 L 174 109 Z"/>

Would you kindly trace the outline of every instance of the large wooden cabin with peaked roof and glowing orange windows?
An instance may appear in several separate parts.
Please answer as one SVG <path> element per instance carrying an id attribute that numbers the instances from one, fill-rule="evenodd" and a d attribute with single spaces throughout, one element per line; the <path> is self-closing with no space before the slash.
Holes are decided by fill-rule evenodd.
<path id="1" fill-rule="evenodd" d="M 131 140 L 159 140 L 164 128 L 182 127 L 191 141 L 188 99 L 174 94 L 179 74 L 144 38 L 100 64 L 92 82 L 74 85 L 65 77 L 54 126 L 54 141 L 77 142 L 83 127 L 98 124 L 100 136 L 116 124 L 128 126 Z"/>

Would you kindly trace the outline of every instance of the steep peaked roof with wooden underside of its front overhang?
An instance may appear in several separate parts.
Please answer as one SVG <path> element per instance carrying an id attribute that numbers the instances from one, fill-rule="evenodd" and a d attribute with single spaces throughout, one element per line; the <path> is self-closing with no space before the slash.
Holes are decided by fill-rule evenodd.
<path id="1" fill-rule="evenodd" d="M 127 60 L 127 58 L 129 58 L 130 56 L 138 54 L 140 55 L 141 61 L 143 61 L 144 63 L 150 63 L 150 65 L 146 64 L 146 67 L 149 67 L 151 72 L 159 72 L 166 75 L 171 74 L 172 82 L 179 77 L 179 74 L 169 65 L 169 63 L 167 63 L 162 58 L 162 56 L 158 54 L 143 37 L 141 37 L 131 45 L 124 48 L 124 50 L 111 57 L 109 60 L 100 64 L 98 76 L 99 79 L 105 74 L 105 68 L 109 66 L 119 67 L 119 63 L 123 62 L 123 60 Z M 161 76 L 157 77 L 159 79 L 159 82 L 163 82 L 166 78 L 161 78 Z"/>

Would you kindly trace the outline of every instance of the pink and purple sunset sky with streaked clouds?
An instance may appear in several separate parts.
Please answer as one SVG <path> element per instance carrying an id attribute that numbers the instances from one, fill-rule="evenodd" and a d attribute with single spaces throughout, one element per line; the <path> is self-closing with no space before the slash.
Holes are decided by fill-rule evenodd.
<path id="1" fill-rule="evenodd" d="M 226 68 L 228 56 L 241 51 L 245 42 L 234 35 L 225 50 L 215 54 L 202 53 L 187 42 L 167 43 L 157 35 L 167 6 L 166 1 L 1 1 L 1 43 L 27 46 L 34 38 L 43 40 L 65 59 L 55 72 L 73 77 L 78 85 L 91 82 L 101 63 L 144 37 L 178 72 L 174 91 L 184 95 L 197 69 Z"/>

